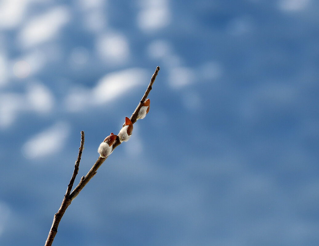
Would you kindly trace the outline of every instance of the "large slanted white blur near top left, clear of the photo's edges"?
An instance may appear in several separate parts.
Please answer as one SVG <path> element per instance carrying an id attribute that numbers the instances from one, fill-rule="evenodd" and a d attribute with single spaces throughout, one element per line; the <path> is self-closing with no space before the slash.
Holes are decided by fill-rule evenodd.
<path id="1" fill-rule="evenodd" d="M 66 7 L 55 7 L 26 23 L 19 34 L 24 47 L 31 47 L 54 38 L 70 18 Z"/>

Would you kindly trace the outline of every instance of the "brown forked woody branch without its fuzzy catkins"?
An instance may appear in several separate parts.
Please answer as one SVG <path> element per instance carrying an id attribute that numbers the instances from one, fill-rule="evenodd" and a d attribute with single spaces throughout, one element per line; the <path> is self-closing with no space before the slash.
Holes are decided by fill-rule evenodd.
<path id="1" fill-rule="evenodd" d="M 151 81 L 144 93 L 144 96 L 142 97 L 141 101 L 139 102 L 139 104 L 137 105 L 137 108 L 135 109 L 135 111 L 133 112 L 130 120 L 131 122 L 134 124 L 136 122 L 136 117 L 137 117 L 137 113 L 140 110 L 140 108 L 143 105 L 143 102 L 146 100 L 148 94 L 150 93 L 150 91 L 152 90 L 152 85 L 155 81 L 155 78 L 157 76 L 159 72 L 159 67 L 156 68 Z M 125 125 L 125 124 L 124 124 Z M 124 127 L 123 125 L 123 127 Z M 115 149 L 118 145 L 120 145 L 121 142 L 119 141 L 119 138 L 117 137 L 115 142 L 113 143 L 113 149 Z M 96 174 L 97 170 L 99 169 L 99 167 L 102 165 L 102 163 L 106 160 L 106 158 L 101 158 L 99 157 L 97 159 L 97 161 L 94 163 L 94 165 L 92 166 L 92 168 L 89 170 L 89 172 L 83 176 L 80 180 L 80 182 L 78 183 L 78 185 L 74 188 L 74 190 L 71 192 L 72 190 L 72 186 L 74 184 L 74 180 L 78 174 L 78 170 L 79 170 L 79 164 L 80 164 L 80 160 L 81 160 L 81 155 L 82 155 L 82 151 L 83 151 L 83 145 L 84 145 L 84 132 L 81 131 L 81 144 L 80 144 L 80 148 L 79 148 L 79 154 L 78 154 L 78 158 L 77 161 L 75 162 L 74 165 L 74 171 L 70 180 L 70 183 L 68 185 L 68 188 L 65 192 L 64 198 L 62 200 L 62 204 L 58 210 L 58 212 L 54 215 L 53 218 L 53 222 L 52 222 L 52 226 L 50 228 L 49 231 L 49 235 L 47 238 L 47 241 L 45 242 L 45 246 L 51 246 L 52 242 L 54 240 L 54 237 L 56 236 L 57 233 L 57 228 L 59 226 L 59 223 L 62 219 L 63 214 L 65 213 L 66 209 L 68 208 L 68 206 L 71 204 L 72 200 L 74 198 L 76 198 L 76 196 L 79 194 L 79 192 L 83 189 L 83 187 L 90 181 L 90 179 Z"/>

